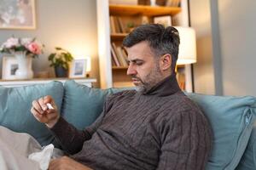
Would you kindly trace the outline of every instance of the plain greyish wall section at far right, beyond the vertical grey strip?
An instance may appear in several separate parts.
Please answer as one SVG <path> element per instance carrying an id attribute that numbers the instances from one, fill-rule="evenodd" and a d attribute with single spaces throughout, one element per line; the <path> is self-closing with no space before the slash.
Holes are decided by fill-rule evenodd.
<path id="1" fill-rule="evenodd" d="M 256 1 L 218 1 L 225 95 L 256 96 Z"/>

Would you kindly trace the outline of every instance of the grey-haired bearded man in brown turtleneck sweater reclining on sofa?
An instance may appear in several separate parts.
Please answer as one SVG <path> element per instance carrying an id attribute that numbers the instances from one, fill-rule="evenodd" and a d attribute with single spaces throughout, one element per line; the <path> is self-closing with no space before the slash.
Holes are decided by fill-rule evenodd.
<path id="1" fill-rule="evenodd" d="M 177 30 L 156 24 L 139 26 L 123 44 L 128 52 L 127 74 L 137 91 L 108 97 L 102 115 L 84 131 L 67 123 L 49 96 L 33 101 L 32 114 L 72 155 L 51 161 L 49 169 L 204 169 L 211 128 L 178 87 Z M 47 110 L 47 103 L 55 109 Z"/>

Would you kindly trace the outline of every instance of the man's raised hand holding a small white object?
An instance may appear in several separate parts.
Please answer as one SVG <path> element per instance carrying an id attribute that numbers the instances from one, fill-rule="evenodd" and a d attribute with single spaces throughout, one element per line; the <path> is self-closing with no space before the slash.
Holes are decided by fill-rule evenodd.
<path id="1" fill-rule="evenodd" d="M 47 104 L 52 105 L 53 108 L 48 108 Z M 49 95 L 34 100 L 32 102 L 31 112 L 39 122 L 44 122 L 49 128 L 54 127 L 55 123 L 58 122 L 60 118 L 55 101 Z"/>

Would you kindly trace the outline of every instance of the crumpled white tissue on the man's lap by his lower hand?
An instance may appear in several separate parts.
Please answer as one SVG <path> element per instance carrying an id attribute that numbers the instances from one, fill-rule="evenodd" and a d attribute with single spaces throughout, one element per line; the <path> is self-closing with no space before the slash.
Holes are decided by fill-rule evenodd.
<path id="1" fill-rule="evenodd" d="M 50 157 L 53 155 L 53 144 L 48 144 L 44 146 L 43 150 L 39 152 L 34 152 L 28 156 L 28 159 L 33 161 L 38 161 L 40 168 L 42 170 L 47 170 L 49 167 Z"/>

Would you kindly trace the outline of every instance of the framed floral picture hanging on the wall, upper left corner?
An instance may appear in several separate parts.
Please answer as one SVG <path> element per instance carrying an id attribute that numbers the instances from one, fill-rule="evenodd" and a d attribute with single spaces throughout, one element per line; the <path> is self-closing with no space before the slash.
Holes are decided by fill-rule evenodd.
<path id="1" fill-rule="evenodd" d="M 35 28 L 35 0 L 0 0 L 0 29 Z"/>

